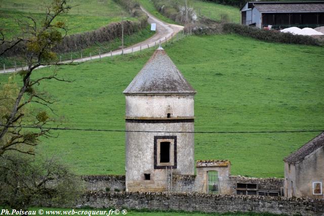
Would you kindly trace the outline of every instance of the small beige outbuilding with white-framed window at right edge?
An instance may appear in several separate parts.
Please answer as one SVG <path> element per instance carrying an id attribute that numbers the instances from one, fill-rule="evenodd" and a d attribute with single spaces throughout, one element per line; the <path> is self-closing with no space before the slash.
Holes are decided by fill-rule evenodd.
<path id="1" fill-rule="evenodd" d="M 285 196 L 324 198 L 324 132 L 285 161 Z"/>

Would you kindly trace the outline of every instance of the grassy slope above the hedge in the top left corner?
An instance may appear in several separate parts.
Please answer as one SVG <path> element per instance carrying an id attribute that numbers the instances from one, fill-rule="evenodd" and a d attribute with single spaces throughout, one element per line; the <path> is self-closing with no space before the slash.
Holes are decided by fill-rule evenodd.
<path id="1" fill-rule="evenodd" d="M 26 20 L 24 16 L 33 16 L 36 20 L 44 17 L 45 4 L 51 1 L 39 0 L 4 0 L 1 2 L 0 23 L 2 28 L 6 30 L 6 36 L 16 35 L 20 28 L 15 20 Z M 40 4 L 42 3 L 42 4 Z M 70 28 L 69 34 L 86 32 L 100 28 L 111 22 L 121 21 L 121 8 L 113 2 L 107 1 L 87 1 L 87 0 L 71 0 L 68 1 L 70 6 L 74 6 L 68 14 L 63 14 L 57 18 L 57 21 L 64 21 Z M 125 11 L 125 19 L 135 20 Z"/>

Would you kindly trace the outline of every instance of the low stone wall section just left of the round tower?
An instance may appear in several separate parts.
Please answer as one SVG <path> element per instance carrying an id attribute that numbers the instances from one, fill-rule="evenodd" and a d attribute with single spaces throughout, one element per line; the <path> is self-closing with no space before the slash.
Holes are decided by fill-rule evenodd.
<path id="1" fill-rule="evenodd" d="M 82 176 L 87 189 L 89 191 L 125 191 L 126 183 L 125 176 L 115 175 L 96 175 L 96 176 Z"/>

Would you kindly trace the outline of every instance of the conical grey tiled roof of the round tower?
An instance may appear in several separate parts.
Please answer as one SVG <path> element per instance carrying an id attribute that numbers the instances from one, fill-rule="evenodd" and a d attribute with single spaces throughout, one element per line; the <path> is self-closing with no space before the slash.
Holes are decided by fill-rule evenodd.
<path id="1" fill-rule="evenodd" d="M 159 47 L 124 94 L 195 94 L 170 57 Z"/>

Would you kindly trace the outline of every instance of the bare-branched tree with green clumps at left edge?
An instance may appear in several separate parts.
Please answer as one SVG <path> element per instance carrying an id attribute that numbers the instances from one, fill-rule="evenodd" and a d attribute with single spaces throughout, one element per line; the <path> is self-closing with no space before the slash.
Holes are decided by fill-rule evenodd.
<path id="1" fill-rule="evenodd" d="M 43 80 L 55 79 L 67 81 L 59 78 L 54 72 L 52 75 L 40 78 L 32 78 L 34 70 L 44 65 L 60 65 L 57 55 L 53 48 L 58 45 L 66 36 L 67 27 L 64 22 L 56 21 L 60 14 L 67 13 L 71 7 L 67 5 L 66 0 L 53 0 L 52 4 L 46 7 L 44 19 L 39 22 L 32 16 L 25 16 L 25 21 L 20 21 L 22 27 L 22 36 L 6 39 L 4 32 L 0 32 L 0 56 L 6 54 L 11 49 L 20 46 L 21 55 L 27 62 L 27 67 L 20 71 L 22 83 L 19 88 L 7 89 L 3 87 L 3 92 L 15 92 L 0 96 L 0 157 L 7 151 L 16 151 L 25 154 L 34 154 L 33 146 L 37 145 L 41 137 L 51 137 L 49 127 L 51 118 L 46 111 L 54 111 L 51 108 L 52 100 L 36 90 L 36 86 Z M 27 21 L 26 21 L 27 20 Z M 62 34 L 62 32 L 64 32 Z M 8 88 L 10 86 L 8 85 Z M 45 106 L 46 109 L 28 115 L 26 105 L 36 103 Z M 35 129 L 27 130 L 23 126 L 28 120 L 28 126 Z"/>

